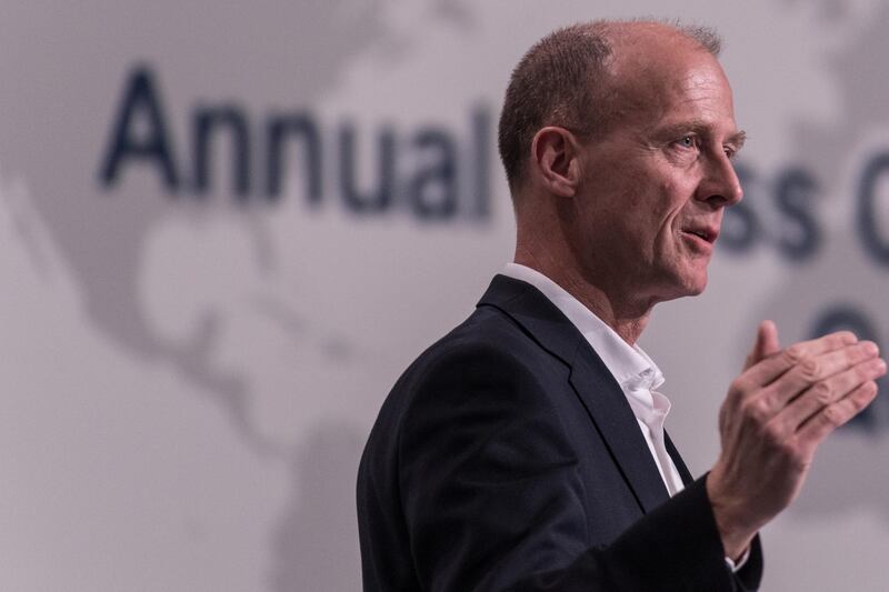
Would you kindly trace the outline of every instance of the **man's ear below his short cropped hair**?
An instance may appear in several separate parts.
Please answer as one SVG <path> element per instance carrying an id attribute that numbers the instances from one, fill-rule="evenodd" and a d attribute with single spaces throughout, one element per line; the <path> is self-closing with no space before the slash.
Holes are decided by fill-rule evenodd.
<path id="1" fill-rule="evenodd" d="M 579 144 L 565 128 L 541 128 L 531 142 L 533 165 L 551 193 L 572 198 L 580 183 Z"/>

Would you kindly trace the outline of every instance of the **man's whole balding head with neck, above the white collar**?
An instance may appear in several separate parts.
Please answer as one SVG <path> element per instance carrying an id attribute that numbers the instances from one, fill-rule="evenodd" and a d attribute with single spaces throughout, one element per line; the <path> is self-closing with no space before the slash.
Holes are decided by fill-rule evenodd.
<path id="1" fill-rule="evenodd" d="M 718 49 L 706 29 L 576 24 L 535 46 L 507 91 L 516 261 L 612 328 L 633 320 L 630 343 L 657 302 L 705 289 L 742 197 L 731 159 L 745 134 Z"/>

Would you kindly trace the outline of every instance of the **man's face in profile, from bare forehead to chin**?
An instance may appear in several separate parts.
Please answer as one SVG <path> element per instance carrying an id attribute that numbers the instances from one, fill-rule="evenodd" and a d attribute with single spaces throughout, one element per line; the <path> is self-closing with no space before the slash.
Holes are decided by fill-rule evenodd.
<path id="1" fill-rule="evenodd" d="M 741 199 L 731 89 L 687 42 L 639 48 L 612 71 L 618 112 L 583 146 L 569 224 L 581 271 L 649 305 L 698 294 L 723 208 Z"/>

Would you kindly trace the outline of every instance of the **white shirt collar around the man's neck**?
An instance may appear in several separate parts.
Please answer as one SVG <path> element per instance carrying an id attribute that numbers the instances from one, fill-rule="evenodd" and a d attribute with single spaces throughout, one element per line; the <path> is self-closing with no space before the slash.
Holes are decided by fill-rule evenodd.
<path id="1" fill-rule="evenodd" d="M 663 384 L 660 369 L 639 345 L 630 345 L 623 341 L 613 329 L 562 287 L 520 263 L 507 263 L 501 273 L 540 290 L 592 345 L 622 388 L 653 391 Z"/>

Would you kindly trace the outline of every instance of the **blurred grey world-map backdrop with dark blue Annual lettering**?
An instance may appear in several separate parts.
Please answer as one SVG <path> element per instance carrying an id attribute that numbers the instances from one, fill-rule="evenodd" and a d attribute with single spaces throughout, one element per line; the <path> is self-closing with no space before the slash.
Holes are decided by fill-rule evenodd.
<path id="1" fill-rule="evenodd" d="M 512 254 L 509 72 L 650 14 L 719 29 L 750 137 L 707 292 L 642 340 L 700 474 L 760 319 L 889 340 L 889 6 L 4 0 L 0 589 L 359 590 L 379 405 Z M 888 388 L 763 590 L 886 590 Z"/>

